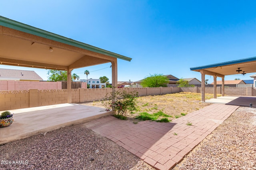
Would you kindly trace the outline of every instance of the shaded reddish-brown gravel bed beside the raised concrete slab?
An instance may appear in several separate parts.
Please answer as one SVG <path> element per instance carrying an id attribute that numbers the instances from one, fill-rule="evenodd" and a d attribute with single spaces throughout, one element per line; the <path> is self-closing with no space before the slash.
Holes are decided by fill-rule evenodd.
<path id="1" fill-rule="evenodd" d="M 0 150 L 1 170 L 153 170 L 83 124 L 10 142 Z"/>

